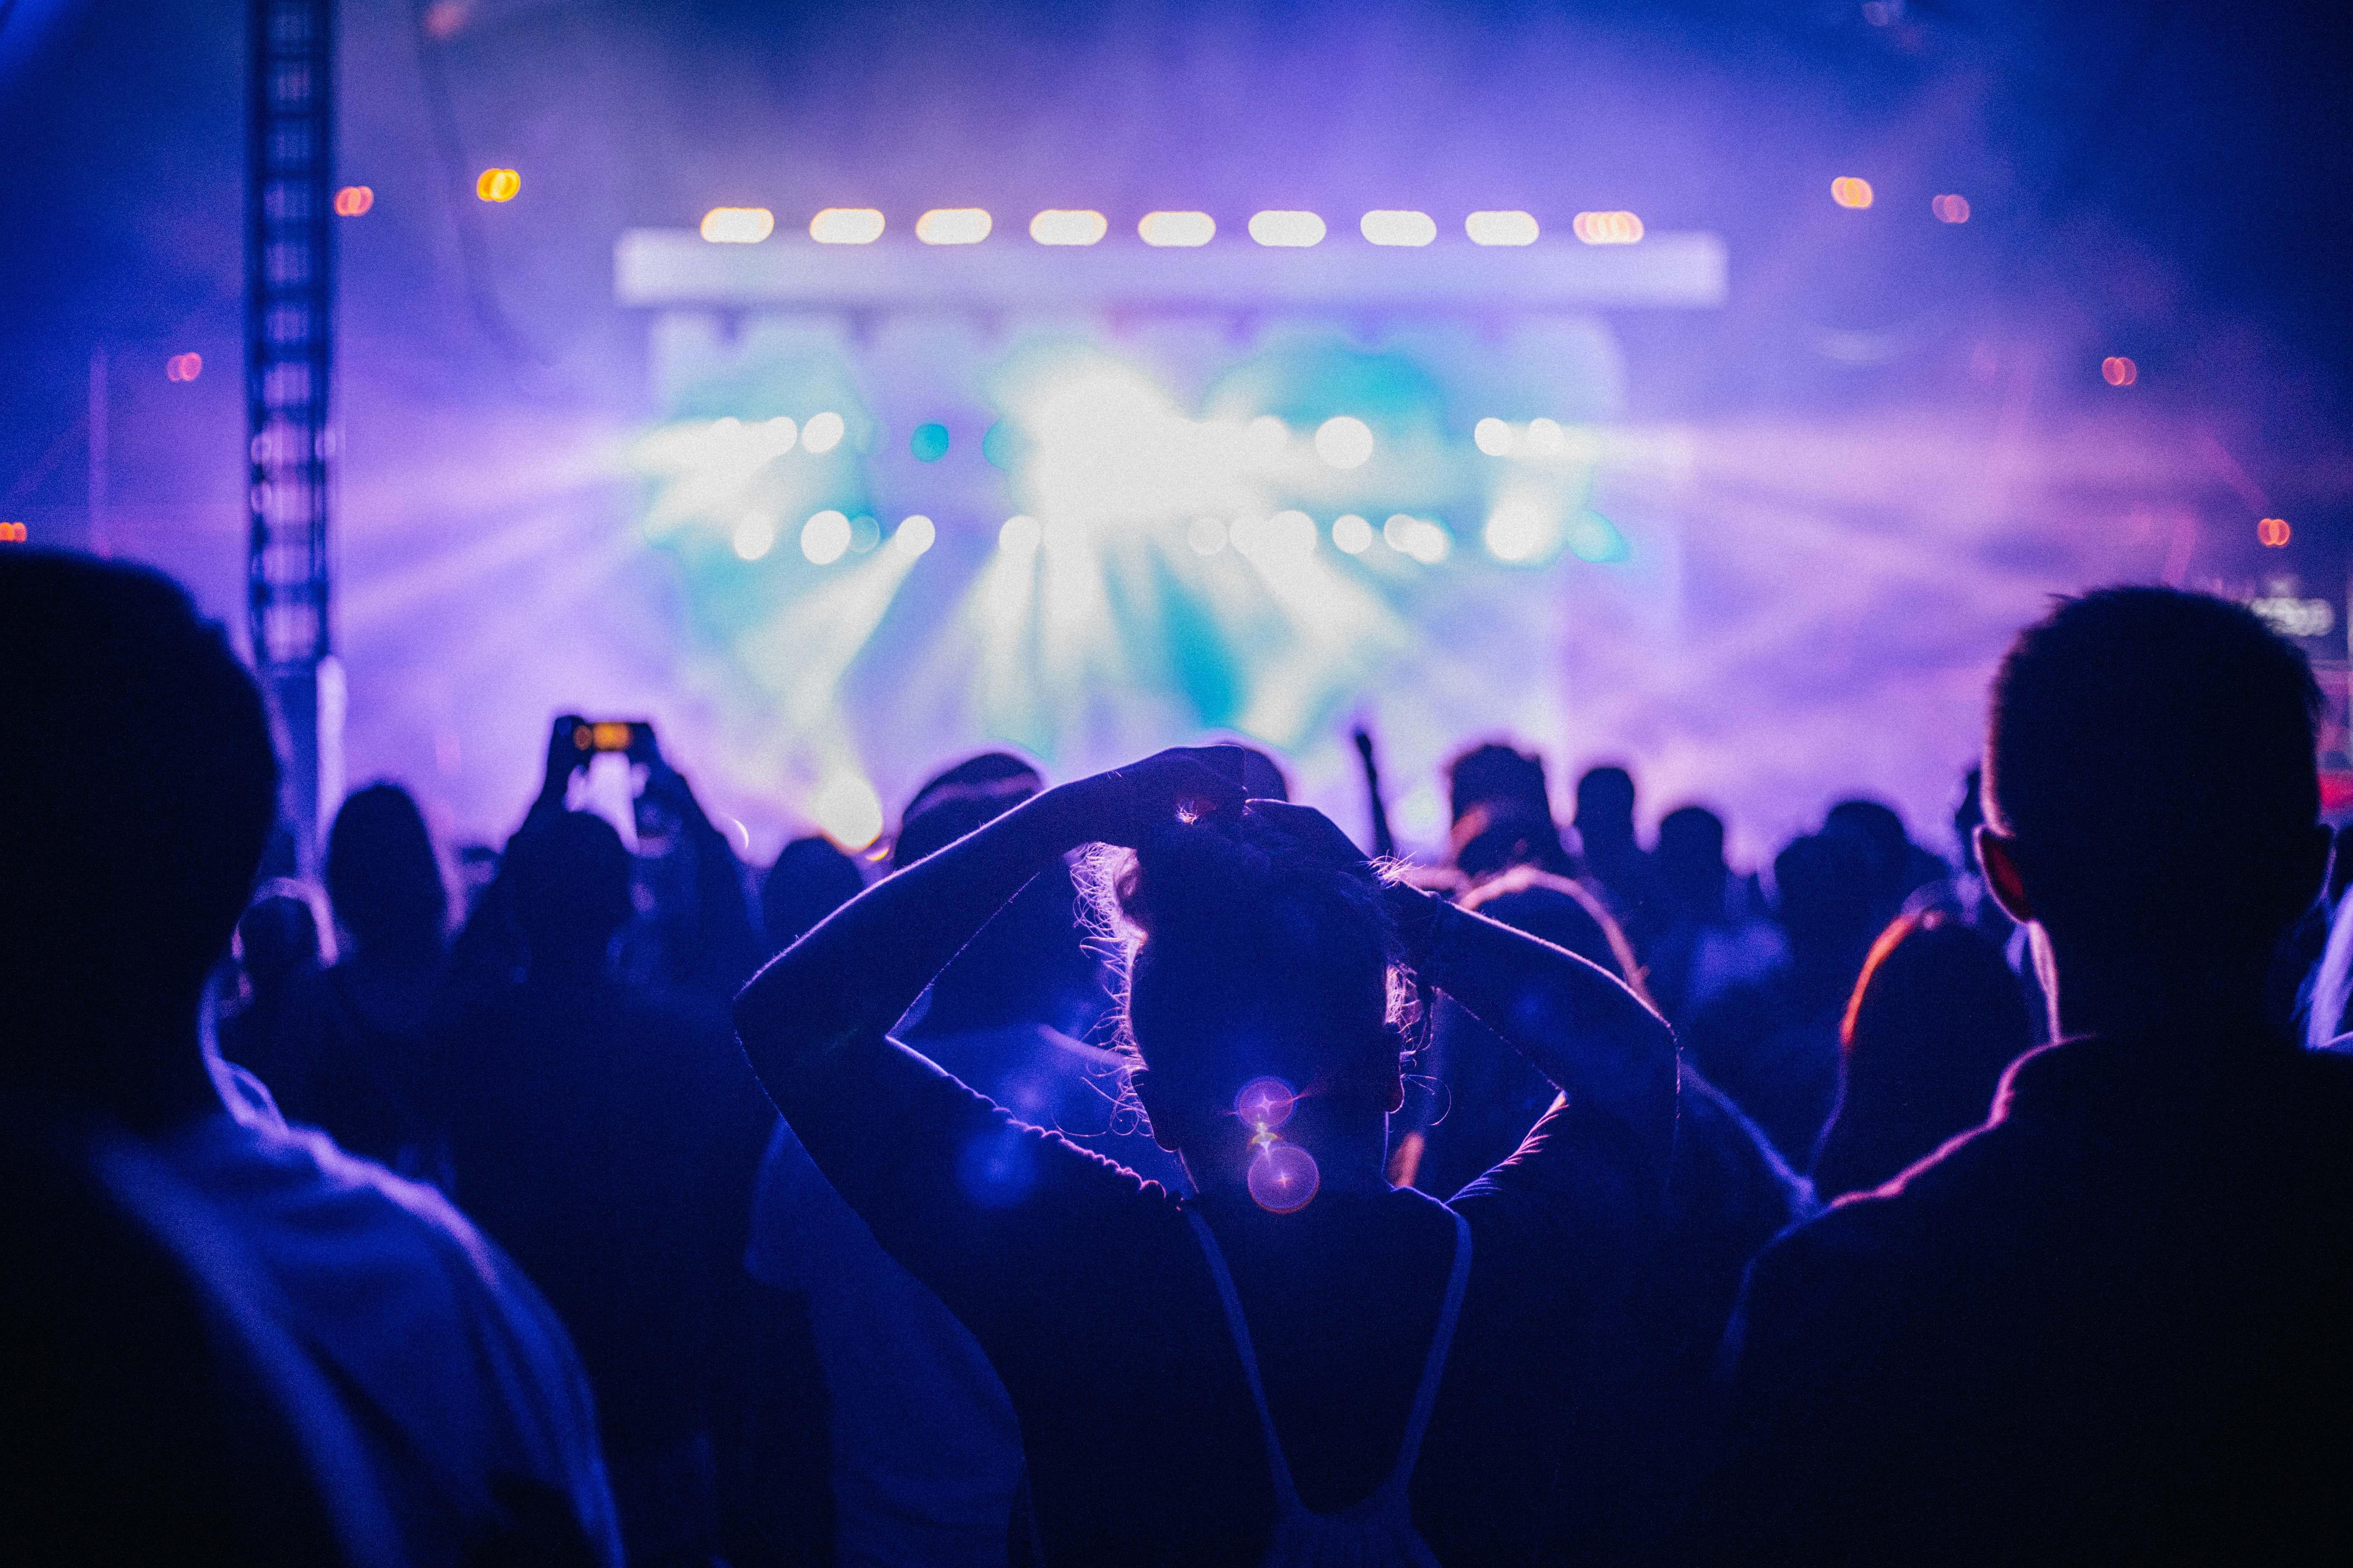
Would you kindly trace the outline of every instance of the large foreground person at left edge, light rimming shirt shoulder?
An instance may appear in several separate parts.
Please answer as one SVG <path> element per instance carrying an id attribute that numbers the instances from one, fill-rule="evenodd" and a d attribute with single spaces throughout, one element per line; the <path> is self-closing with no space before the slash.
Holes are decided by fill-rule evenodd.
<path id="1" fill-rule="evenodd" d="M 586 1389 L 426 1187 L 202 1046 L 278 804 L 167 578 L 0 557 L 0 1533 L 24 1561 L 616 1563 Z"/>

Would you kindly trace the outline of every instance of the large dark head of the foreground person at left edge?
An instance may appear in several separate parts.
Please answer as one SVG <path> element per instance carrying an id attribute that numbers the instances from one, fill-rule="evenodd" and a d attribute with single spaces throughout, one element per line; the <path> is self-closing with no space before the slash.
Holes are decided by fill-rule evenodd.
<path id="1" fill-rule="evenodd" d="M 0 552 L 0 1070 L 134 1093 L 195 1063 L 254 889 L 278 811 L 261 691 L 139 567 Z"/>

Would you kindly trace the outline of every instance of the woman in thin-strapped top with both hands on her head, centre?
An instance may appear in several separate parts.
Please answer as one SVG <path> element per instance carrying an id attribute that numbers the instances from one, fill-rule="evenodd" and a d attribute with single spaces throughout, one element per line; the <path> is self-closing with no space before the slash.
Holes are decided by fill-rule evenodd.
<path id="1" fill-rule="evenodd" d="M 744 990 L 744 1046 L 1005 1378 L 1047 1563 L 1607 1554 L 1609 1434 L 1579 1418 L 1664 1204 L 1673 1034 L 1593 964 L 1388 884 L 1318 811 L 1247 802 L 1228 750 L 1045 790 L 866 889 Z M 1191 1197 L 885 1037 L 1087 846 L 1132 1084 Z M 1565 1091 L 1452 1204 L 1381 1175 L 1417 978 Z"/>

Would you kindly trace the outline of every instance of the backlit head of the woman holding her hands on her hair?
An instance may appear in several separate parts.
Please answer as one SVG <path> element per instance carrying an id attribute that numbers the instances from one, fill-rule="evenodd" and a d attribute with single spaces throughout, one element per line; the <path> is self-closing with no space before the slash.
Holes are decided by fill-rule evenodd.
<path id="1" fill-rule="evenodd" d="M 1136 1093 L 1165 1147 L 1200 1143 L 1259 1077 L 1332 1105 L 1398 1107 L 1407 987 L 1372 879 L 1254 811 L 1233 825 L 1172 820 L 1089 870 L 1125 959 Z"/>

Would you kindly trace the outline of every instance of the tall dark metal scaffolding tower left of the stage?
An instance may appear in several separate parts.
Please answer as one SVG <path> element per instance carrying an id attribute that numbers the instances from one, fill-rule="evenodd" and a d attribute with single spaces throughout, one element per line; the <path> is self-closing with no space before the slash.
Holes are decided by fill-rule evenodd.
<path id="1" fill-rule="evenodd" d="M 334 433 L 334 2 L 252 0 L 245 183 L 247 609 L 285 724 L 304 865 L 341 729 L 327 510 Z M 322 675 L 334 686 L 320 703 Z M 325 722 L 322 722 L 325 719 Z M 327 764 L 322 769 L 322 752 Z"/>

